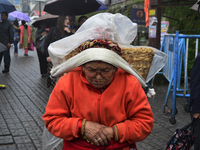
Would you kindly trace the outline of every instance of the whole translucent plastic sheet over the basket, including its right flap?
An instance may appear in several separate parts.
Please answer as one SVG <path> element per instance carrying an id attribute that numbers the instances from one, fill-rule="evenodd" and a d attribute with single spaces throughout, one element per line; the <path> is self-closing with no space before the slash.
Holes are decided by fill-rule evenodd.
<path id="1" fill-rule="evenodd" d="M 83 25 L 74 35 L 68 36 L 50 44 L 48 50 L 53 63 L 53 68 L 51 71 L 52 76 L 59 77 L 63 75 L 59 72 L 68 72 L 76 68 L 77 63 L 79 66 L 82 65 L 79 63 L 80 61 L 77 61 L 76 59 L 70 59 L 70 62 L 67 61 L 68 63 L 65 63 L 65 67 L 63 67 L 63 63 L 66 62 L 65 56 L 88 40 L 108 39 L 118 43 L 121 47 L 134 47 L 130 45 L 130 43 L 135 39 L 136 35 L 137 24 L 133 23 L 128 17 L 120 13 L 100 13 L 92 16 L 83 23 Z M 153 76 L 164 67 L 167 60 L 167 55 L 165 53 L 157 50 L 156 48 L 151 48 L 155 51 L 155 56 L 146 78 L 146 83 L 149 82 Z M 94 59 L 91 56 L 90 61 L 92 60 Z M 138 78 L 138 80 L 144 79 Z"/>

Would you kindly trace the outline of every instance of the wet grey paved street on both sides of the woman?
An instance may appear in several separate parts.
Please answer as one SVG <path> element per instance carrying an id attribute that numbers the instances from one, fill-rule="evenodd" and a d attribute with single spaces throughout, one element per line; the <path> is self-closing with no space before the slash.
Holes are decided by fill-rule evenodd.
<path id="1" fill-rule="evenodd" d="M 44 122 L 42 115 L 51 93 L 46 87 L 46 78 L 39 72 L 36 51 L 29 51 L 29 56 L 13 55 L 11 48 L 11 68 L 2 74 L 0 66 L 0 84 L 6 89 L 0 90 L 0 150 L 41 150 Z M 162 113 L 167 85 L 155 85 L 156 97 L 150 99 L 155 123 L 152 133 L 144 141 L 138 142 L 138 150 L 164 150 L 167 141 L 175 129 L 190 122 L 190 116 L 183 109 L 185 99 L 177 99 L 177 123 L 170 124 L 169 114 Z M 170 96 L 171 98 L 171 96 Z M 169 100 L 170 108 L 170 100 Z M 61 145 L 57 149 L 62 149 Z"/>

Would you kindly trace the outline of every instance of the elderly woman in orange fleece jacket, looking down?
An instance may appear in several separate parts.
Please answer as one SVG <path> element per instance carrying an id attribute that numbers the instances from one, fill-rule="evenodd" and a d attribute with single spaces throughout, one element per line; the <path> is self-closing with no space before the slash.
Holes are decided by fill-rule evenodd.
<path id="1" fill-rule="evenodd" d="M 108 43 L 93 41 L 93 47 L 120 54 L 116 43 Z M 82 45 L 79 51 L 87 51 Z M 136 77 L 93 60 L 59 79 L 43 120 L 49 132 L 64 139 L 63 150 L 128 150 L 151 133 L 154 117 Z"/>

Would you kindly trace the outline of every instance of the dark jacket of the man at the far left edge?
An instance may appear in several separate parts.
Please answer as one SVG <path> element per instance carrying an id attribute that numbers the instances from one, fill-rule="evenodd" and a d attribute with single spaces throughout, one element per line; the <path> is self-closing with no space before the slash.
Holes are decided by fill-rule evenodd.
<path id="1" fill-rule="evenodd" d="M 14 42 L 13 25 L 8 20 L 0 22 L 0 42 L 6 47 Z"/>

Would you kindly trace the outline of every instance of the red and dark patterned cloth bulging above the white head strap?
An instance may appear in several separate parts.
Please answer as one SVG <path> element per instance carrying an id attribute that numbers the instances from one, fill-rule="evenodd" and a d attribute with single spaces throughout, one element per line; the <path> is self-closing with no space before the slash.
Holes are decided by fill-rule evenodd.
<path id="1" fill-rule="evenodd" d="M 121 48 L 119 47 L 119 45 L 117 43 L 112 42 L 111 40 L 105 40 L 105 39 L 89 40 L 89 41 L 81 44 L 77 48 L 77 50 L 78 50 L 78 52 L 82 52 L 83 50 L 88 49 L 88 48 L 98 48 L 98 47 L 110 49 L 119 55 L 122 54 Z"/>

